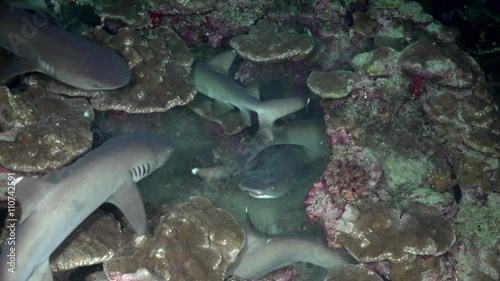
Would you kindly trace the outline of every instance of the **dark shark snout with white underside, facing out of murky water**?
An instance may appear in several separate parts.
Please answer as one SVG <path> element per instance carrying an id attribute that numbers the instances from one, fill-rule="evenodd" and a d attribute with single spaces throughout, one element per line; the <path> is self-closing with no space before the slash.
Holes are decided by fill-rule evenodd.
<path id="1" fill-rule="evenodd" d="M 266 177 L 259 172 L 252 172 L 240 182 L 240 188 L 248 191 L 253 198 L 276 199 L 290 192 L 291 184 L 279 178 Z"/>

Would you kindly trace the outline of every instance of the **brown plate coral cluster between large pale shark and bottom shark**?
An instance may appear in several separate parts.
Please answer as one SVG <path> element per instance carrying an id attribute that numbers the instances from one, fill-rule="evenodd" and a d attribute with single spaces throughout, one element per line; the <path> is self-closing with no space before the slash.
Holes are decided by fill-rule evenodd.
<path id="1" fill-rule="evenodd" d="M 149 207 L 151 234 L 137 236 L 128 228 L 122 232 L 109 216 L 90 218 L 59 250 L 53 268 L 104 262 L 111 280 L 128 280 L 125 274 L 166 280 L 224 278 L 245 243 L 245 233 L 231 215 L 200 197 Z"/>

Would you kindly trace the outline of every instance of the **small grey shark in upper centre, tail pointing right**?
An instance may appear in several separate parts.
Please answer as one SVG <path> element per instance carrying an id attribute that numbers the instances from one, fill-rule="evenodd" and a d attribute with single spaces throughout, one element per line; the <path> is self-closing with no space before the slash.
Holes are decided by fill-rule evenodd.
<path id="1" fill-rule="evenodd" d="M 191 82 L 196 90 L 214 100 L 216 116 L 237 107 L 243 122 L 250 127 L 250 111 L 253 111 L 257 113 L 259 128 L 268 128 L 266 132 L 272 132 L 274 121 L 304 108 L 309 103 L 309 99 L 301 97 L 260 101 L 257 84 L 245 88 L 229 76 L 229 68 L 235 58 L 235 52 L 226 51 L 208 63 L 196 64 L 191 71 Z M 268 137 L 272 138 L 272 135 Z"/>

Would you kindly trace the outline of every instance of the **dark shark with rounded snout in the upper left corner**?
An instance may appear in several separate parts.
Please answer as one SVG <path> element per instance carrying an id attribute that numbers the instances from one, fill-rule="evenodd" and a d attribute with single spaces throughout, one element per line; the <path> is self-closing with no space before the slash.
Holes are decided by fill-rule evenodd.
<path id="1" fill-rule="evenodd" d="M 83 90 L 112 90 L 130 81 L 128 64 L 114 52 L 0 1 L 0 47 L 16 55 L 0 82 L 41 72 Z"/>

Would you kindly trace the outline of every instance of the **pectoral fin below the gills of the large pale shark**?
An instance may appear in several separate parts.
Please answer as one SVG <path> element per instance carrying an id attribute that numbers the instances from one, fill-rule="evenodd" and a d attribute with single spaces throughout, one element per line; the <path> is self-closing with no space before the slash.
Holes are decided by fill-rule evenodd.
<path id="1" fill-rule="evenodd" d="M 146 210 L 142 201 L 141 193 L 133 181 L 124 183 L 108 202 L 122 211 L 127 221 L 132 225 L 137 234 L 144 235 L 147 232 Z"/>

